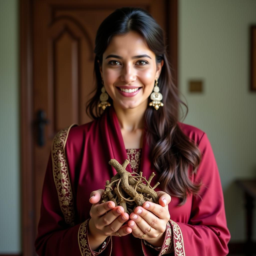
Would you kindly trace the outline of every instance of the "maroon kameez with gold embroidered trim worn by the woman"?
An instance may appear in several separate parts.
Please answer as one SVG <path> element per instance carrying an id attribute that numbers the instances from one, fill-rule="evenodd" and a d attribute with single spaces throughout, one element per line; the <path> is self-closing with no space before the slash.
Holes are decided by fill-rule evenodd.
<path id="1" fill-rule="evenodd" d="M 101 255 L 200 255 L 228 254 L 230 234 L 227 228 L 223 193 L 218 168 L 208 138 L 201 130 L 180 123 L 183 132 L 202 153 L 197 173 L 201 182 L 200 196 L 187 197 L 183 206 L 172 197 L 171 220 L 161 251 L 156 251 L 132 234 L 113 236 L 103 245 Z M 151 163 L 150 148 L 144 132 L 140 171 L 147 178 L 158 172 Z M 61 130 L 54 139 L 42 191 L 41 217 L 35 242 L 39 255 L 95 255 L 90 250 L 87 224 L 90 218 L 90 193 L 103 188 L 116 174 L 108 164 L 111 158 L 123 163 L 127 158 L 120 125 L 113 107 L 98 119 Z M 131 172 L 130 165 L 126 168 Z M 189 170 L 190 172 L 191 170 Z M 156 191 L 162 190 L 161 184 Z M 168 232 L 167 232 L 168 231 Z M 172 239 L 172 241 L 171 241 Z M 174 252 L 170 252 L 173 251 Z"/>

